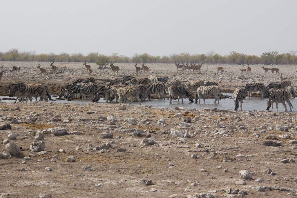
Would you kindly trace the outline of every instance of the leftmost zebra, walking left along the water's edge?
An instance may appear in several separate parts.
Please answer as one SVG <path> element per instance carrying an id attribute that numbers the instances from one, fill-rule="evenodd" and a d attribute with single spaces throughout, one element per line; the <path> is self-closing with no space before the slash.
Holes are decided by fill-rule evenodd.
<path id="1" fill-rule="evenodd" d="M 46 91 L 46 88 L 43 85 L 32 85 L 24 83 L 9 85 L 8 96 L 12 97 L 16 92 L 20 92 L 20 94 L 17 96 L 14 103 L 16 103 L 17 100 L 23 96 L 26 96 L 26 102 L 28 101 L 27 97 L 30 96 L 39 96 L 41 100 L 46 99 L 47 102 L 48 98 L 50 98 L 49 93 Z"/>

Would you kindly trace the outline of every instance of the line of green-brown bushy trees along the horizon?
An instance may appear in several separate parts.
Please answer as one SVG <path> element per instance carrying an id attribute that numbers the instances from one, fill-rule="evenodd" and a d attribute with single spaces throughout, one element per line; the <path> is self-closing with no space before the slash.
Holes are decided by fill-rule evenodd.
<path id="1" fill-rule="evenodd" d="M 206 54 L 171 54 L 169 56 L 152 56 L 148 53 L 135 53 L 132 57 L 113 53 L 110 56 L 99 54 L 98 52 L 83 55 L 82 53 L 40 53 L 35 51 L 23 51 L 13 48 L 7 52 L 0 52 L 0 61 L 56 61 L 56 62 L 90 62 L 90 63 L 108 63 L 116 61 L 118 63 L 208 63 L 208 64 L 297 64 L 297 51 L 291 50 L 288 53 L 279 54 L 278 51 L 269 51 L 262 53 L 261 56 L 247 55 L 235 51 L 228 55 L 219 55 L 210 51 Z M 98 64 L 99 65 L 99 64 Z"/>

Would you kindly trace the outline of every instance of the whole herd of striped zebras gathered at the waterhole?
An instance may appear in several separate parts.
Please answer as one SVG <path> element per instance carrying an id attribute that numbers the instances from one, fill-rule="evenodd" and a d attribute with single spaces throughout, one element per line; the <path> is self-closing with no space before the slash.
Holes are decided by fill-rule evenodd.
<path id="1" fill-rule="evenodd" d="M 292 104 L 290 103 L 290 96 L 295 98 L 294 88 L 291 85 L 291 81 L 282 80 L 270 83 L 265 87 L 263 83 L 247 83 L 247 85 L 242 88 L 238 87 L 235 89 L 233 93 L 233 98 L 235 102 L 235 109 L 238 110 L 239 102 L 240 109 L 242 110 L 243 100 L 246 98 L 246 93 L 248 93 L 248 97 L 252 98 L 253 92 L 260 92 L 262 94 L 262 98 L 264 95 L 264 91 L 269 92 L 270 89 L 273 89 L 270 94 L 269 100 L 267 102 L 267 110 L 273 103 L 276 104 L 282 103 L 285 106 L 285 101 L 290 106 L 290 110 Z M 81 97 L 83 99 L 92 99 L 92 102 L 98 102 L 101 97 L 104 97 L 106 102 L 112 102 L 113 99 L 116 99 L 116 102 L 126 102 L 127 98 L 131 99 L 130 104 L 136 99 L 141 105 L 141 100 L 145 101 L 151 99 L 151 94 L 158 94 L 159 100 L 163 96 L 163 100 L 165 100 L 165 96 L 169 94 L 169 103 L 172 102 L 173 97 L 178 97 L 177 102 L 181 98 L 181 103 L 183 103 L 184 97 L 187 97 L 190 102 L 194 102 L 191 91 L 195 91 L 194 99 L 195 102 L 200 104 L 200 99 L 202 98 L 204 103 L 206 97 L 214 96 L 214 103 L 221 100 L 222 91 L 216 82 L 206 82 L 202 80 L 192 80 L 192 81 L 180 81 L 180 80 L 169 80 L 168 76 L 165 77 L 157 77 L 155 75 L 150 75 L 148 78 L 137 78 L 133 76 L 124 76 L 123 78 L 113 78 L 107 85 L 103 85 L 99 87 L 96 85 L 96 81 L 93 77 L 89 77 L 86 79 L 78 79 L 74 83 L 69 84 L 63 88 L 61 88 L 61 92 L 59 94 L 59 98 L 64 97 L 65 99 L 71 99 L 73 97 Z M 37 96 L 40 97 L 40 100 L 48 101 L 51 99 L 48 88 L 45 85 L 33 85 L 33 84 L 12 84 L 9 86 L 9 96 L 13 96 L 15 93 L 20 92 L 17 100 L 30 99 L 32 101 L 32 97 L 37 99 Z M 277 107 L 277 105 L 276 105 Z M 272 107 L 271 107 L 272 110 Z M 287 109 L 286 109 L 287 110 Z"/>

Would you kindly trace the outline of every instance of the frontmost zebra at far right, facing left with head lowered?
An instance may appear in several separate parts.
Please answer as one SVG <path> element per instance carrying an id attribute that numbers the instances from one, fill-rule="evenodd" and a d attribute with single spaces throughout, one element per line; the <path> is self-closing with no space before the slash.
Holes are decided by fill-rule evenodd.
<path id="1" fill-rule="evenodd" d="M 277 90 L 277 91 L 272 91 L 270 96 L 269 96 L 269 100 L 267 100 L 267 111 L 269 110 L 269 108 L 271 107 L 271 112 L 272 112 L 272 108 L 273 108 L 273 103 L 275 102 L 276 106 L 278 103 L 282 103 L 285 107 L 285 110 L 287 111 L 287 105 L 285 104 L 285 101 L 287 102 L 287 104 L 290 107 L 290 111 L 292 111 L 292 107 L 293 105 L 290 102 L 290 94 L 289 92 L 287 92 L 286 90 Z M 278 111 L 278 109 L 277 109 Z"/>

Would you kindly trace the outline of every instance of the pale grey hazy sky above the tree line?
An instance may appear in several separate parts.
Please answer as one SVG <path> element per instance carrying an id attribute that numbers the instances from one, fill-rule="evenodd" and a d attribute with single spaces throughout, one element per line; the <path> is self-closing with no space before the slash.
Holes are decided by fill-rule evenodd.
<path id="1" fill-rule="evenodd" d="M 297 50 L 296 0 L 1 1 L 0 51 L 261 55 Z"/>

